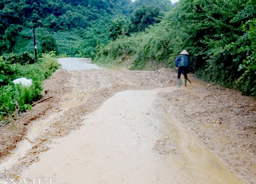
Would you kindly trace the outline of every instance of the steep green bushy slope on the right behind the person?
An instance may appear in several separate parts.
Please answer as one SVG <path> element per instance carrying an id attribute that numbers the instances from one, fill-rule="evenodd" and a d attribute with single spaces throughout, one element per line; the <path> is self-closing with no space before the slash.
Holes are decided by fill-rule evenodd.
<path id="1" fill-rule="evenodd" d="M 252 0 L 180 0 L 159 24 L 99 45 L 94 60 L 124 64 L 128 59 L 132 70 L 144 70 L 147 62 L 172 67 L 186 49 L 190 71 L 198 77 L 256 96 L 255 22 Z"/>

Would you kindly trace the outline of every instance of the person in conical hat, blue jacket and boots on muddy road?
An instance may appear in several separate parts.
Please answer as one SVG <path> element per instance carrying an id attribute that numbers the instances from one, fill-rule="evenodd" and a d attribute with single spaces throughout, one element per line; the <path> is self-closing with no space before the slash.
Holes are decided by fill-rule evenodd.
<path id="1" fill-rule="evenodd" d="M 177 88 L 181 87 L 181 74 L 184 75 L 184 85 L 187 85 L 187 68 L 189 66 L 189 56 L 188 52 L 186 50 L 183 50 L 180 55 L 175 60 L 175 65 L 178 70 L 178 85 Z"/>

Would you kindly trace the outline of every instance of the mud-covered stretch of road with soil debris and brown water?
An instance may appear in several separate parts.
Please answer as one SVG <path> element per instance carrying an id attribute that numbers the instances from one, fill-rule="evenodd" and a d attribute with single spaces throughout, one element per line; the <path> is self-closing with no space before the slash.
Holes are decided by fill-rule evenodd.
<path id="1" fill-rule="evenodd" d="M 189 77 L 177 89 L 168 69 L 57 71 L 53 98 L 0 129 L 0 176 L 256 183 L 256 100 Z"/>

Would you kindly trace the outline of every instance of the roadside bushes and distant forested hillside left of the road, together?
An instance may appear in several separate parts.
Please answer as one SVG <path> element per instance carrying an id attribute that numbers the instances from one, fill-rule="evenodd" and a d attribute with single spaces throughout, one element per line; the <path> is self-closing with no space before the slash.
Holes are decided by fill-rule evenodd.
<path id="1" fill-rule="evenodd" d="M 43 81 L 58 67 L 54 53 L 94 58 L 97 48 L 160 22 L 159 15 L 171 7 L 168 0 L 3 0 L 0 2 L 0 119 L 12 114 L 15 102 L 19 110 L 24 110 L 41 97 Z M 32 29 L 41 57 L 36 64 L 33 64 Z M 11 82 L 20 77 L 32 79 L 32 86 Z"/>

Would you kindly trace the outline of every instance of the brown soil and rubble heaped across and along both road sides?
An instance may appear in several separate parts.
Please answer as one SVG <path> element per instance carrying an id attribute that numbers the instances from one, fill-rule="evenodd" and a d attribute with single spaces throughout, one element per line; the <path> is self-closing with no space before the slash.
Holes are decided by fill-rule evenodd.
<path id="1" fill-rule="evenodd" d="M 210 85 L 190 75 L 192 84 L 172 93 L 161 91 L 162 111 L 170 110 L 200 142 L 217 155 L 228 168 L 247 183 L 256 183 L 256 100 L 241 96 L 238 91 Z M 49 149 L 55 137 L 67 136 L 82 126 L 84 117 L 98 109 L 118 91 L 154 89 L 176 85 L 176 73 L 168 69 L 149 71 L 63 71 L 45 82 L 47 94 L 53 98 L 41 102 L 16 121 L 0 128 L 0 158 L 14 151 L 24 140 L 31 125 L 39 119 L 59 114 L 49 127 L 34 140 L 32 149 L 10 169 L 2 172 L 14 178 L 40 159 L 40 152 Z M 80 105 L 63 108 L 70 94 L 78 95 Z M 70 104 L 69 104 L 70 105 Z M 168 142 L 168 149 L 161 145 Z M 155 150 L 161 154 L 178 152 L 176 144 L 165 137 Z M 1 170 L 2 171 L 2 170 Z M 0 171 L 0 172 L 1 172 Z"/>

